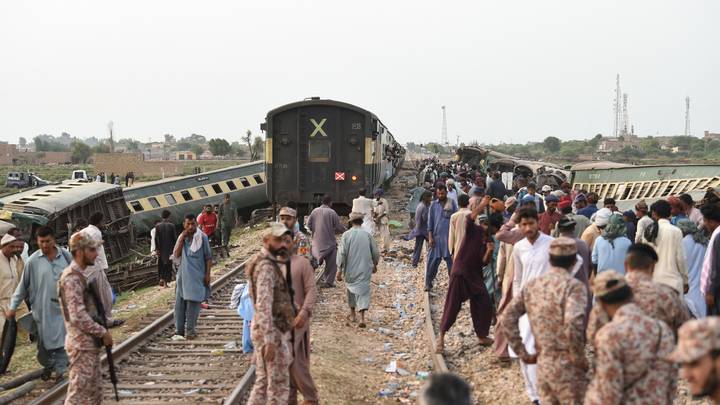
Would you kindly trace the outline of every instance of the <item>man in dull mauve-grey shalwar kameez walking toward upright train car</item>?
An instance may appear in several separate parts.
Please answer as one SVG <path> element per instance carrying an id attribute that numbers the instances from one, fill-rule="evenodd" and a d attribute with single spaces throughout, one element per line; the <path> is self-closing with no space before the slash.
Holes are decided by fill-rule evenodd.
<path id="1" fill-rule="evenodd" d="M 308 217 L 308 229 L 312 232 L 312 253 L 318 263 L 325 262 L 325 270 L 320 276 L 320 286 L 329 288 L 335 286 L 337 273 L 337 240 L 335 235 L 343 233 L 345 228 L 340 223 L 340 217 L 331 208 L 332 197 L 325 195 L 323 204 L 315 208 Z"/>

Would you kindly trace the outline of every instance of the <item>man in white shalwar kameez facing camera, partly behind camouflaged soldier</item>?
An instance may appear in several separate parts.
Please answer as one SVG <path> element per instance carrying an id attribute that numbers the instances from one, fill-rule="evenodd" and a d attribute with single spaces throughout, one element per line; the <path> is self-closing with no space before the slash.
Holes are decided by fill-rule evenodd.
<path id="1" fill-rule="evenodd" d="M 519 230 L 525 238 L 517 242 L 513 248 L 513 263 L 515 274 L 513 277 L 513 298 L 520 295 L 522 289 L 530 280 L 542 276 L 550 267 L 550 242 L 553 238 L 540 232 L 537 211 L 533 207 L 523 207 L 518 210 L 517 220 Z M 529 354 L 535 354 L 535 337 L 530 330 L 530 321 L 527 314 L 520 318 L 520 336 Z M 510 357 L 517 355 L 509 348 Z M 520 360 L 520 369 L 525 380 L 525 388 L 533 403 L 539 403 L 540 395 L 537 387 L 537 365 L 526 364 Z"/>

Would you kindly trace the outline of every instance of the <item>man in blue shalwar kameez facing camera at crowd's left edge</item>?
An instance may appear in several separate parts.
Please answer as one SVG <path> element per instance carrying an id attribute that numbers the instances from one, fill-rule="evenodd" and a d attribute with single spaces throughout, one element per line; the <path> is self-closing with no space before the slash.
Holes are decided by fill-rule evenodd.
<path id="1" fill-rule="evenodd" d="M 448 274 L 452 270 L 449 234 L 450 217 L 457 211 L 457 204 L 447 196 L 447 188 L 439 184 L 435 190 L 437 199 L 430 204 L 428 213 L 428 259 L 425 267 L 425 291 L 432 290 L 440 262 L 445 260 Z"/>

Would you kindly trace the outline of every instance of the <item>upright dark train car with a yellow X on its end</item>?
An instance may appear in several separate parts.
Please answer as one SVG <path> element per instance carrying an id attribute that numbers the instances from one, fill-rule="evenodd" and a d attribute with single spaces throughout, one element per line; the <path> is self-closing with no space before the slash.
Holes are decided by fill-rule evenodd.
<path id="1" fill-rule="evenodd" d="M 307 215 L 325 194 L 333 208 L 350 212 L 360 189 L 372 191 L 401 167 L 405 149 L 373 113 L 313 97 L 267 113 L 265 132 L 267 197 L 275 205 L 293 202 Z"/>

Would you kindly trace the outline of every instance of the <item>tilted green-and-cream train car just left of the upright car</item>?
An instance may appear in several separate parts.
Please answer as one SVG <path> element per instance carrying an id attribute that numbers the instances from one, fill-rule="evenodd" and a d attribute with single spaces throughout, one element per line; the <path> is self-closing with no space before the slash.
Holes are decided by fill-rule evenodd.
<path id="1" fill-rule="evenodd" d="M 267 206 L 264 166 L 257 161 L 126 188 L 123 194 L 136 234 L 150 232 L 163 210 L 170 210 L 172 222 L 180 225 L 186 214 L 222 204 L 225 194 L 230 194 L 238 214 L 249 217 L 253 209 Z"/>

